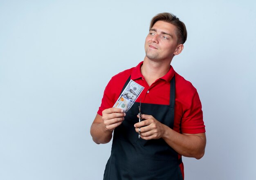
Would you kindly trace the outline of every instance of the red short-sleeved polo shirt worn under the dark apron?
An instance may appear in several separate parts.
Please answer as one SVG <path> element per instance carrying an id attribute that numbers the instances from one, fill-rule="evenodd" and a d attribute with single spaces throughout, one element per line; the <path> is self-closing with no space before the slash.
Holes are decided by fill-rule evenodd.
<path id="1" fill-rule="evenodd" d="M 144 87 L 136 102 L 150 104 L 165 104 L 170 102 L 170 81 L 175 75 L 175 110 L 173 130 L 179 133 L 204 133 L 205 126 L 203 122 L 202 105 L 198 93 L 191 84 L 182 76 L 177 74 L 173 67 L 162 78 L 157 79 L 149 87 L 141 74 L 140 68 L 143 61 L 137 67 L 127 69 L 113 76 L 108 82 L 103 94 L 101 106 L 98 114 L 102 116 L 102 111 L 113 107 L 120 96 L 126 80 L 131 79 Z"/>

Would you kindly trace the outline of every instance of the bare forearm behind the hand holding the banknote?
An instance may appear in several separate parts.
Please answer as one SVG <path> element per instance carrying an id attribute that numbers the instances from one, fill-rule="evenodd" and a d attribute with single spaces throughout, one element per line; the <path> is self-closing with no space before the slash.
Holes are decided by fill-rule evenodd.
<path id="1" fill-rule="evenodd" d="M 106 144 L 110 142 L 112 132 L 113 131 L 106 130 L 103 122 L 93 123 L 90 130 L 92 140 L 97 144 Z"/>

